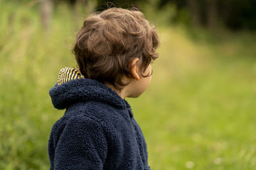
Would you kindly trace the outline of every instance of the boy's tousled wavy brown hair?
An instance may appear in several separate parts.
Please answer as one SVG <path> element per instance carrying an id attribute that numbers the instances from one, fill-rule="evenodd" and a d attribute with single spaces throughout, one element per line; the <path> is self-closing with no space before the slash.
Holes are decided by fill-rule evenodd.
<path id="1" fill-rule="evenodd" d="M 123 80 L 152 74 L 150 62 L 157 59 L 159 45 L 156 28 L 136 8 L 109 8 L 84 21 L 72 52 L 84 78 L 110 83 L 116 89 L 127 85 Z M 150 69 L 148 71 L 148 69 Z"/>

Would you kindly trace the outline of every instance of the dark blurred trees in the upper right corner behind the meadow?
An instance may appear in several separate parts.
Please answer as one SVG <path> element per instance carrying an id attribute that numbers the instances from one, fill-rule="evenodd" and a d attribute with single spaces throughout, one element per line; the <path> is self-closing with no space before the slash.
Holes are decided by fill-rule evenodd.
<path id="1" fill-rule="evenodd" d="M 168 3 L 177 6 L 174 20 L 179 22 L 180 11 L 187 10 L 190 24 L 216 29 L 220 23 L 229 29 L 256 30 L 255 0 L 159 0 L 159 8 Z M 188 24 L 188 23 L 186 23 Z"/>

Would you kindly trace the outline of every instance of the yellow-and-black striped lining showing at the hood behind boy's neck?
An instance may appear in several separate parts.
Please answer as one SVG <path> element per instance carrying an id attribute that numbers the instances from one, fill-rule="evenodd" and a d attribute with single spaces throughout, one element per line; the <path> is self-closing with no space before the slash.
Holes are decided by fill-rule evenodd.
<path id="1" fill-rule="evenodd" d="M 84 76 L 81 73 L 79 73 L 77 69 L 64 67 L 63 69 L 60 70 L 57 83 L 58 85 L 61 85 L 70 80 L 75 80 L 80 78 L 84 78 Z"/>

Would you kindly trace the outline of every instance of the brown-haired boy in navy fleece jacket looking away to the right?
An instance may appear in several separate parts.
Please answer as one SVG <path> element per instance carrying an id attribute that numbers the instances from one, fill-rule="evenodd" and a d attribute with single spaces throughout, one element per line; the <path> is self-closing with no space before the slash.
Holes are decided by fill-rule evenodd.
<path id="1" fill-rule="evenodd" d="M 72 50 L 79 71 L 61 69 L 49 91 L 54 107 L 66 109 L 52 127 L 50 169 L 150 169 L 125 97 L 147 89 L 158 44 L 156 29 L 136 9 L 86 18 Z"/>

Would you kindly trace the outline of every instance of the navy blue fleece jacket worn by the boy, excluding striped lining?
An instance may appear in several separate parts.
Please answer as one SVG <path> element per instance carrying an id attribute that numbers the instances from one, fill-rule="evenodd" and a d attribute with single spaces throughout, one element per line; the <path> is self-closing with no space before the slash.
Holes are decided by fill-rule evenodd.
<path id="1" fill-rule="evenodd" d="M 50 169 L 150 169 L 147 145 L 131 107 L 106 85 L 86 78 L 54 85 Z"/>

